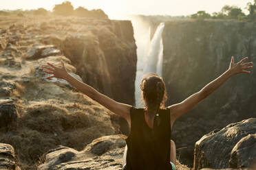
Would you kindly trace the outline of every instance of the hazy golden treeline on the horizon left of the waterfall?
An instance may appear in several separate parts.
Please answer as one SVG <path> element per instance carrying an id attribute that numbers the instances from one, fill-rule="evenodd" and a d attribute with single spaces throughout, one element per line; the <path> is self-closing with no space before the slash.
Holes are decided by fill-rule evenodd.
<path id="1" fill-rule="evenodd" d="M 92 17 L 100 19 L 108 19 L 107 14 L 103 10 L 87 10 L 84 7 L 78 7 L 74 9 L 74 6 L 70 1 L 64 1 L 61 4 L 54 5 L 51 11 L 45 10 L 44 8 L 38 8 L 36 10 L 1 10 L 1 15 L 17 15 L 17 16 L 28 16 L 28 15 L 59 15 L 59 16 L 81 16 L 81 17 Z"/>

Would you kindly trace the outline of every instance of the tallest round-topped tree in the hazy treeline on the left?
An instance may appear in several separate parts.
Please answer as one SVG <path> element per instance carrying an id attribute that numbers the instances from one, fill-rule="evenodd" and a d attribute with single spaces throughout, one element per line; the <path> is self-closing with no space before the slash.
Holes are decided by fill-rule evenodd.
<path id="1" fill-rule="evenodd" d="M 70 1 L 65 1 L 61 4 L 54 5 L 54 14 L 70 16 L 74 13 L 74 7 Z"/>

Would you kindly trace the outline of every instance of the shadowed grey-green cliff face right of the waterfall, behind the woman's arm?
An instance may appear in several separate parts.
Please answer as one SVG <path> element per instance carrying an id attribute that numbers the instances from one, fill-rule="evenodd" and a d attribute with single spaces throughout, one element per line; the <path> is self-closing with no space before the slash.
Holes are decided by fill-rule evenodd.
<path id="1" fill-rule="evenodd" d="M 248 56 L 256 62 L 256 23 L 171 21 L 163 37 L 163 78 L 169 100 L 178 103 L 198 92 L 235 62 Z M 193 147 L 201 136 L 228 123 L 256 116 L 256 77 L 235 75 L 173 126 L 173 140 L 183 162 L 192 165 Z"/>

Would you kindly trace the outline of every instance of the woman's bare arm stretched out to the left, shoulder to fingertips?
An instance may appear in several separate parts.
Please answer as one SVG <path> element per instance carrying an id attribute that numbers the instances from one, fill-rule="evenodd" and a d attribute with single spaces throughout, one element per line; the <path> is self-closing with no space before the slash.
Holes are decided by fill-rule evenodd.
<path id="1" fill-rule="evenodd" d="M 57 77 L 57 78 L 62 78 L 66 80 L 72 86 L 77 88 L 79 91 L 81 91 L 91 99 L 94 99 L 99 104 L 105 106 L 105 108 L 109 109 L 111 112 L 114 112 L 115 114 L 118 114 L 121 117 L 125 118 L 128 121 L 128 123 L 130 123 L 130 108 L 131 108 L 130 105 L 122 104 L 120 102 L 114 101 L 114 99 L 111 99 L 106 95 L 99 93 L 92 86 L 89 86 L 77 80 L 76 78 L 72 77 L 69 73 L 67 73 L 62 60 L 61 60 L 62 68 L 58 68 L 50 63 L 47 63 L 47 64 L 49 66 L 43 66 L 43 69 L 44 69 L 43 71 L 48 74 L 53 74 L 51 76 L 46 77 L 47 79 L 52 77 Z"/>

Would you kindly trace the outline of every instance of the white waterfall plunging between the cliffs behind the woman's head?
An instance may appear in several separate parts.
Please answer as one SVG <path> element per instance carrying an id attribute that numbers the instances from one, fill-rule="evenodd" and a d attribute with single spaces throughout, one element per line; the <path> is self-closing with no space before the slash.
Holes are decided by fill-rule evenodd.
<path id="1" fill-rule="evenodd" d="M 140 81 L 145 73 L 158 73 L 162 76 L 162 31 L 164 23 L 160 23 L 150 40 L 151 27 L 143 21 L 131 19 L 134 26 L 134 38 L 137 45 L 137 71 L 135 80 L 136 107 L 143 107 L 141 101 Z"/>

